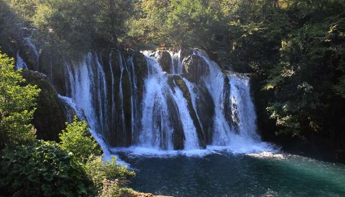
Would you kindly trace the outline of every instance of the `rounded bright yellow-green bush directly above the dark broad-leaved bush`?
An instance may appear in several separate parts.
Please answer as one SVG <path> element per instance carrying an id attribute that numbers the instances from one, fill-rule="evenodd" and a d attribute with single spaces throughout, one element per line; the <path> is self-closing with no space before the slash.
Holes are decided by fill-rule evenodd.
<path id="1" fill-rule="evenodd" d="M 61 148 L 72 153 L 81 162 L 86 162 L 90 155 L 100 155 L 97 142 L 90 136 L 86 121 L 78 121 L 74 116 L 72 123 L 66 123 L 66 130 L 60 133 Z"/>

